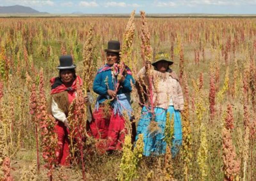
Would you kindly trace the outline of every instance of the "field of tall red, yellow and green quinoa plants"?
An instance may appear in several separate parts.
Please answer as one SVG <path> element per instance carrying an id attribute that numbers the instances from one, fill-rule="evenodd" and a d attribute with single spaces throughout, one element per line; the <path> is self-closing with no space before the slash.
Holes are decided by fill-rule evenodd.
<path id="1" fill-rule="evenodd" d="M 144 15 L 0 18 L 1 181 L 256 180 L 256 19 Z M 142 156 L 143 143 L 133 146 L 128 121 L 122 152 L 101 154 L 100 140 L 87 137 L 82 151 L 71 148 L 70 167 L 57 166 L 49 80 L 59 76 L 59 57 L 71 55 L 93 94 L 93 109 L 92 81 L 105 64 L 109 40 L 121 42 L 121 61 L 135 80 L 159 51 L 174 61 L 185 100 L 180 152 Z M 69 119 L 85 128 L 79 98 Z M 135 86 L 131 98 L 137 124 Z"/>

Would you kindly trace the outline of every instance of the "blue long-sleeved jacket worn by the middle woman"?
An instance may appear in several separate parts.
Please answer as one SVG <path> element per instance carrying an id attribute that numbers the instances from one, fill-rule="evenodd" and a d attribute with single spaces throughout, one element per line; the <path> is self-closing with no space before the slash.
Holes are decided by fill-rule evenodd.
<path id="1" fill-rule="evenodd" d="M 100 72 L 100 70 L 103 67 L 101 67 L 98 70 L 98 74 L 96 75 L 94 81 L 93 81 L 93 91 L 97 94 L 99 94 L 99 97 L 97 98 L 98 103 L 102 103 L 103 101 L 105 101 L 106 99 L 109 98 L 108 96 L 108 89 L 109 90 L 114 90 L 114 84 L 116 85 L 117 83 L 117 76 L 116 80 L 114 78 L 112 78 L 112 74 L 111 74 L 111 70 L 105 70 Z M 106 79 L 107 78 L 107 79 Z M 108 80 L 106 82 L 106 80 Z M 117 91 L 117 95 L 119 94 L 129 94 L 132 91 L 132 85 L 131 85 L 131 80 L 132 80 L 132 84 L 135 83 L 132 75 L 127 74 L 125 76 L 125 80 L 123 83 L 120 83 L 120 88 Z M 108 84 L 108 85 L 107 85 Z"/>

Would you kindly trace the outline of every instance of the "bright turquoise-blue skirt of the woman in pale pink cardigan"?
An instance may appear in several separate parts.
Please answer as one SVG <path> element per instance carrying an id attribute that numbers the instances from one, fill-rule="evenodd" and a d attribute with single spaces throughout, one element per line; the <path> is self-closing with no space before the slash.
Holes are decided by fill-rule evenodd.
<path id="1" fill-rule="evenodd" d="M 145 156 L 161 155 L 165 153 L 166 142 L 164 141 L 164 128 L 166 123 L 166 114 L 170 112 L 170 118 L 174 114 L 174 139 L 172 144 L 172 157 L 174 157 L 182 145 L 182 125 L 180 120 L 179 110 L 174 110 L 173 106 L 169 106 L 168 109 L 163 109 L 159 107 L 154 108 L 155 111 L 155 121 L 158 123 L 160 128 L 158 131 L 149 132 L 148 126 L 151 120 L 151 113 L 148 112 L 147 108 L 144 106 L 141 111 L 141 118 L 137 126 L 136 141 L 139 134 L 143 134 L 144 142 L 144 152 Z"/>

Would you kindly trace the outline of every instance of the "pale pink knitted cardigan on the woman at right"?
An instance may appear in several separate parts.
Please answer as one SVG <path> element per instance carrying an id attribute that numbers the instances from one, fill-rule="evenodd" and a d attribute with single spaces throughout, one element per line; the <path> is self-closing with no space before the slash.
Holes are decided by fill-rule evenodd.
<path id="1" fill-rule="evenodd" d="M 167 109 L 170 105 L 170 99 L 172 98 L 174 109 L 180 111 L 183 110 L 184 99 L 176 74 L 174 72 L 161 73 L 157 70 L 152 70 L 152 74 L 154 107 Z M 146 87 L 149 86 L 145 67 L 140 69 L 137 77 L 141 85 L 145 85 Z M 146 104 L 150 106 L 148 97 Z"/>

